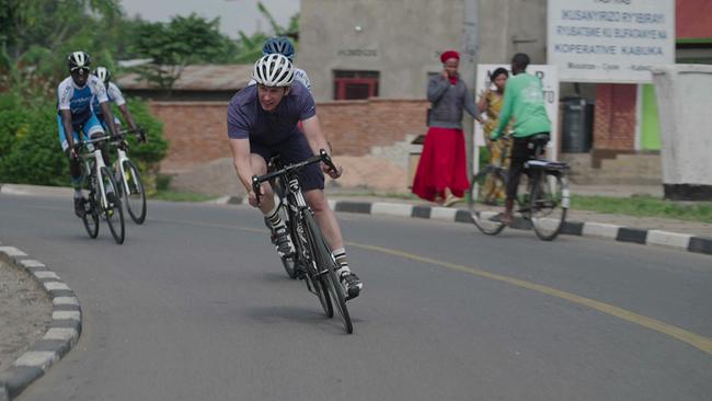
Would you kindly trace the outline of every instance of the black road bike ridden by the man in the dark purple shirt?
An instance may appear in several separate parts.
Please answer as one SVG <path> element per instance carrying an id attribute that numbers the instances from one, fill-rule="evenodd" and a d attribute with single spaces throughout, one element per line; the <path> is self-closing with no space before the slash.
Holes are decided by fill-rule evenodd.
<path id="1" fill-rule="evenodd" d="M 351 334 L 354 332 L 354 325 L 346 307 L 344 288 L 336 276 L 338 264 L 317 225 L 313 211 L 305 200 L 297 176 L 297 173 L 305 167 L 320 162 L 325 163 L 334 171 L 336 170 L 331 157 L 325 150 L 321 150 L 319 154 L 299 163 L 283 167 L 278 161 L 275 162 L 273 171 L 262 176 L 254 175 L 252 177 L 252 188 L 260 202 L 261 184 L 265 181 L 273 183 L 275 193 L 280 195 L 278 196 L 279 209 L 284 209 L 287 231 L 296 250 L 294 255 L 283 259 L 287 274 L 307 283 L 307 289 L 319 298 L 326 317 L 334 316 L 335 305 L 344 329 Z"/>

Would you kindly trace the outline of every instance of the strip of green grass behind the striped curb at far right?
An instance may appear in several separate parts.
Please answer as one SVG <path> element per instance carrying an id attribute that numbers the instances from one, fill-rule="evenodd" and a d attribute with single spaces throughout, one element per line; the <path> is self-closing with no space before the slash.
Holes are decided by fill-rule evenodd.
<path id="1" fill-rule="evenodd" d="M 573 210 L 590 210 L 611 215 L 664 217 L 679 220 L 712 222 L 712 203 L 681 203 L 653 196 L 609 197 L 573 195 Z"/>

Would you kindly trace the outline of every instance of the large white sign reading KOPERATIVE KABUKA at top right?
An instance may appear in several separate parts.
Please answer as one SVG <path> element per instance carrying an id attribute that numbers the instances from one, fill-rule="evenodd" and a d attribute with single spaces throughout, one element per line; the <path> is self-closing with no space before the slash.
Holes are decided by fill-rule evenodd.
<path id="1" fill-rule="evenodd" d="M 549 0 L 548 62 L 565 82 L 652 82 L 675 62 L 675 0 Z"/>

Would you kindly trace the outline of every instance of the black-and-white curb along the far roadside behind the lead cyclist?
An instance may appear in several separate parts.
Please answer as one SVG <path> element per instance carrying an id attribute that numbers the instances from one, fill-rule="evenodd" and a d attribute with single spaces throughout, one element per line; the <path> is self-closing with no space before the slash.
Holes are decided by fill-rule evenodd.
<path id="1" fill-rule="evenodd" d="M 214 200 L 214 203 L 229 205 L 246 204 L 245 199 L 239 196 L 223 197 L 220 202 Z M 409 217 L 471 224 L 469 210 L 449 207 L 432 207 L 389 202 L 370 203 L 335 199 L 329 199 L 329 206 L 331 206 L 333 210 L 340 213 L 358 213 L 365 215 Z M 529 221 L 517 218 L 512 228 L 518 230 L 530 230 L 531 225 Z M 680 251 L 712 255 L 712 238 L 694 237 L 679 232 L 647 230 L 595 221 L 565 221 L 561 233 L 565 236 L 602 238 L 619 242 L 632 242 L 642 245 L 666 247 Z"/>

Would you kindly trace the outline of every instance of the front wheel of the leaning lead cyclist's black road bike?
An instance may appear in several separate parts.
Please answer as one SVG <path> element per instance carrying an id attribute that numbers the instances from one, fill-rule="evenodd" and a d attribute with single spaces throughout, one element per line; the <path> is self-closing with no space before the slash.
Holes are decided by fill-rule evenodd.
<path id="1" fill-rule="evenodd" d="M 346 307 L 346 296 L 344 295 L 344 288 L 336 277 L 336 270 L 338 268 L 334 256 L 331 253 L 331 248 L 326 243 L 326 239 L 321 233 L 317 221 L 314 220 L 311 213 L 306 209 L 303 213 L 305 221 L 307 222 L 307 231 L 309 233 L 310 242 L 313 244 L 317 261 L 317 267 L 319 268 L 320 277 L 326 284 L 329 293 L 331 293 L 331 298 L 336 305 L 336 309 L 341 314 L 341 320 L 344 323 L 344 329 L 348 334 L 354 332 L 354 323 L 351 320 L 351 314 L 348 313 L 348 308 Z"/>

